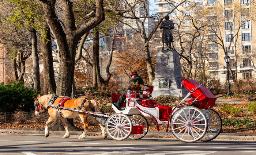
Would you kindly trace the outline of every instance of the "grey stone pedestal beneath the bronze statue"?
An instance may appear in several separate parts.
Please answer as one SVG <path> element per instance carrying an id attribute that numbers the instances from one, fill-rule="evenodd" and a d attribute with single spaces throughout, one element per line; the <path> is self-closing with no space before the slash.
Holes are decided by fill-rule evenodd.
<path id="1" fill-rule="evenodd" d="M 176 51 L 162 50 L 158 52 L 155 65 L 155 79 L 153 81 L 152 97 L 160 95 L 179 96 L 181 82 L 180 56 Z M 187 94 L 185 88 L 181 96 Z"/>

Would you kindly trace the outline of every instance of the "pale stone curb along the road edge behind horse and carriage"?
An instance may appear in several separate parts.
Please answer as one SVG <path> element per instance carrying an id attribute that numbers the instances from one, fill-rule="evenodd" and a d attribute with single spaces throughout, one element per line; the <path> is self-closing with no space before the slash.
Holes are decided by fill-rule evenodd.
<path id="1" fill-rule="evenodd" d="M 50 135 L 64 135 L 65 131 L 49 131 Z M 0 133 L 23 133 L 23 134 L 42 134 L 44 131 L 35 131 L 35 129 L 0 129 Z M 82 131 L 69 131 L 70 135 L 81 135 Z M 87 135 L 99 135 L 101 131 L 88 131 Z M 148 132 L 145 137 L 175 138 L 172 132 Z M 256 140 L 256 133 L 220 133 L 216 139 L 246 139 Z"/>

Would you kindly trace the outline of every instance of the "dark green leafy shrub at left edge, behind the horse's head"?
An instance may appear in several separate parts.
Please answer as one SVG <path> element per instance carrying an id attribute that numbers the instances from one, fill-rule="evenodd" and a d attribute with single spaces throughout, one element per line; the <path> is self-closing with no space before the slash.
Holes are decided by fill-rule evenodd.
<path id="1" fill-rule="evenodd" d="M 34 109 L 34 99 L 39 92 L 26 88 L 21 82 L 10 82 L 7 85 L 0 84 L 0 112 L 14 112 L 22 110 L 30 112 Z"/>

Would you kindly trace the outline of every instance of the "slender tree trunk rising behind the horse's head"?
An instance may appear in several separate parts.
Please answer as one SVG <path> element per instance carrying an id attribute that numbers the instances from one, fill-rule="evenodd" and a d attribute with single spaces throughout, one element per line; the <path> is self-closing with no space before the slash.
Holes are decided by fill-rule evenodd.
<path id="1" fill-rule="evenodd" d="M 40 75 L 39 75 L 39 58 L 37 54 L 37 32 L 34 28 L 30 28 L 31 45 L 32 45 L 32 59 L 33 59 L 33 77 L 35 91 L 41 90 Z"/>

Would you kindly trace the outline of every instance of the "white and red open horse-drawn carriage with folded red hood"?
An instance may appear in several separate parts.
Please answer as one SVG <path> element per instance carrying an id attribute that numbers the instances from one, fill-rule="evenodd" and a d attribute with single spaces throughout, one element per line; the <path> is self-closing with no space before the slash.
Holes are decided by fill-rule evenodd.
<path id="1" fill-rule="evenodd" d="M 166 125 L 166 132 L 170 126 L 173 135 L 183 142 L 209 141 L 216 138 L 222 129 L 221 117 L 211 109 L 217 98 L 209 89 L 204 88 L 194 80 L 184 79 L 182 86 L 187 88 L 189 93 L 172 108 L 158 105 L 156 101 L 150 100 L 153 88 L 150 85 L 139 84 L 133 91 L 128 90 L 126 102 L 123 105 L 125 106 L 124 110 L 119 110 L 112 104 L 112 108 L 116 112 L 112 115 L 88 111 L 83 109 L 84 106 L 80 106 L 80 108 L 79 106 L 65 108 L 53 104 L 47 106 L 90 114 L 91 117 L 105 126 L 106 133 L 115 140 L 144 137 L 148 132 L 148 122 L 145 118 L 147 116 L 153 117 L 158 131 L 159 124 Z M 112 102 L 116 102 L 120 95 L 112 93 Z M 188 97 L 191 99 L 188 100 Z M 105 131 L 103 130 L 102 133 L 104 134 Z"/>

